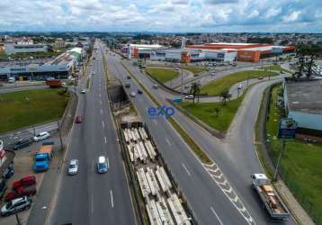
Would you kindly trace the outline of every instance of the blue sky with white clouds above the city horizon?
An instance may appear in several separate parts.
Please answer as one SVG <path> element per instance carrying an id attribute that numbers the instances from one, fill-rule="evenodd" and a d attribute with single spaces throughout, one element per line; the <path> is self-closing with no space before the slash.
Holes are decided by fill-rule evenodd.
<path id="1" fill-rule="evenodd" d="M 322 32 L 322 0 L 0 0 L 0 31 Z"/>

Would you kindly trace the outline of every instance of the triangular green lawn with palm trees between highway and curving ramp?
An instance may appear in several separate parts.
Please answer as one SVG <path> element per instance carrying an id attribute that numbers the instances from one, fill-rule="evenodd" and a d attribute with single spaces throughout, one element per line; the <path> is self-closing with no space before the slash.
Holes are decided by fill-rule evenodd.
<path id="1" fill-rule="evenodd" d="M 207 123 L 210 127 L 220 131 L 228 130 L 231 121 L 243 101 L 244 95 L 237 99 L 228 101 L 226 105 L 223 103 L 188 103 L 183 102 L 179 105 L 184 110 L 197 117 L 199 120 Z M 215 108 L 219 108 L 219 114 L 216 116 Z"/>

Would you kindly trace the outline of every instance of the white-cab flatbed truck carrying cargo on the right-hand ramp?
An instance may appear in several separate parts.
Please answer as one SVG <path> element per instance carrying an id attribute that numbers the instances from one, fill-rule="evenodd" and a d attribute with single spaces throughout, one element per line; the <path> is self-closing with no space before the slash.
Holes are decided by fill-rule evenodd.
<path id="1" fill-rule="evenodd" d="M 273 220 L 289 220 L 290 212 L 264 174 L 251 175 L 253 187 Z"/>

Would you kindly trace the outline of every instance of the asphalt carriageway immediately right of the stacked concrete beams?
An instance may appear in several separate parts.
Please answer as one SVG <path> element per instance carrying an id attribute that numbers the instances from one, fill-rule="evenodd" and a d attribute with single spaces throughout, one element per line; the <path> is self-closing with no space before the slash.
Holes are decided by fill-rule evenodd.
<path id="1" fill-rule="evenodd" d="M 127 92 L 137 92 L 139 85 L 133 79 L 126 78 L 128 73 L 121 67 L 118 59 L 110 54 L 106 56 L 110 72 L 119 77 L 123 84 L 130 83 L 131 87 Z M 247 215 L 246 209 L 243 213 L 238 211 L 168 121 L 164 118 L 153 119 L 148 115 L 148 107 L 154 104 L 146 94 L 137 94 L 132 102 L 147 123 L 157 148 L 199 224 L 255 224 Z"/>

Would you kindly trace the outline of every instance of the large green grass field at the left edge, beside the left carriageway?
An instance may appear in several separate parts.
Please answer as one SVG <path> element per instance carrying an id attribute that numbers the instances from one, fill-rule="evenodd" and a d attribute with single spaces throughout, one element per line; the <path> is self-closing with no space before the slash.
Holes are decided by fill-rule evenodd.
<path id="1" fill-rule="evenodd" d="M 68 102 L 62 89 L 0 94 L 0 133 L 60 118 Z"/>

